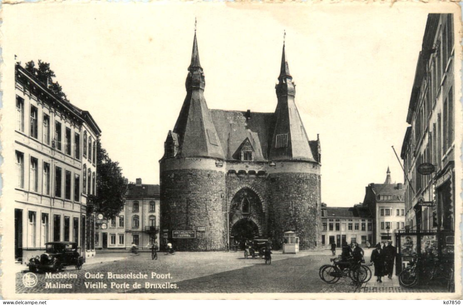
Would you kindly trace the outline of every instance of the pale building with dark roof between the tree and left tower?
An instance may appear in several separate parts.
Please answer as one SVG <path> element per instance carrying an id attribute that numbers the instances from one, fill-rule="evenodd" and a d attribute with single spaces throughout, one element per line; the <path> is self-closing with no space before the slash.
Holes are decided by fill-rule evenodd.
<path id="1" fill-rule="evenodd" d="M 136 244 L 148 249 L 160 243 L 159 235 L 159 185 L 136 183 L 127 185 L 125 205 L 119 215 L 107 221 L 106 229 L 96 230 L 98 249 L 130 249 Z"/>

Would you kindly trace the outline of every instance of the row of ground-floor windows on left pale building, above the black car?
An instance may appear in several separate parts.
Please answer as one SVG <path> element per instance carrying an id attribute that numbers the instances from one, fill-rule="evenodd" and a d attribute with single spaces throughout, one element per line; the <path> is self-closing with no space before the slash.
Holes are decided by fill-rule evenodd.
<path id="1" fill-rule="evenodd" d="M 42 213 L 40 220 L 40 228 L 37 228 L 37 212 L 28 212 L 27 221 L 27 246 L 35 248 L 37 247 L 37 232 L 40 237 L 40 247 L 44 247 L 45 243 L 50 241 L 49 237 L 49 225 L 50 219 L 48 213 Z M 62 222 L 63 219 L 63 222 Z M 61 237 L 61 227 L 63 226 L 63 239 Z M 53 215 L 53 241 L 71 241 L 71 217 L 54 214 Z M 72 218 L 72 241 L 79 241 L 79 218 Z"/>

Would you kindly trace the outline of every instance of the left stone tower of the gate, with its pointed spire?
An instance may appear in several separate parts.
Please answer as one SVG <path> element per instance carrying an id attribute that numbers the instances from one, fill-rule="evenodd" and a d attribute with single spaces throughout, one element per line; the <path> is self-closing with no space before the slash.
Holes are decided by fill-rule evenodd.
<path id="1" fill-rule="evenodd" d="M 225 168 L 220 167 L 225 158 L 204 98 L 205 85 L 195 33 L 187 96 L 160 161 L 161 239 L 173 242 L 177 250 L 219 250 L 225 242 Z M 188 237 L 199 227 L 204 230 L 193 234 L 201 236 Z"/>

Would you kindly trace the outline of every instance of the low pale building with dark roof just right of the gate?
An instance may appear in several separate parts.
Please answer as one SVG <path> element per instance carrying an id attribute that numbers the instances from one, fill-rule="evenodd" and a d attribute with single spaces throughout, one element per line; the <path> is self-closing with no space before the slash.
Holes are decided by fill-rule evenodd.
<path id="1" fill-rule="evenodd" d="M 358 243 L 365 247 L 367 241 L 373 243 L 373 218 L 368 207 L 356 204 L 354 207 L 322 207 L 321 208 L 321 244 L 331 248 L 335 243 L 342 247 Z"/>

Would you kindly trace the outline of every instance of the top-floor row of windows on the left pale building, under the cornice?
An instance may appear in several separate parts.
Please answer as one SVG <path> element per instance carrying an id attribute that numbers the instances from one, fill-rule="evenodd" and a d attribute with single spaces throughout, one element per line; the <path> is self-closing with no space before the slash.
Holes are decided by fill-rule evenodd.
<path id="1" fill-rule="evenodd" d="M 38 140 L 38 108 L 31 105 L 30 113 L 30 136 Z M 16 96 L 16 130 L 24 132 L 24 99 Z M 46 145 L 50 145 L 50 116 L 44 113 L 42 118 L 42 141 Z M 62 146 L 62 132 L 63 127 L 61 122 L 55 120 L 55 134 L 51 140 L 51 146 L 56 150 L 63 151 L 65 154 L 72 155 L 72 145 L 74 144 L 74 158 L 81 159 L 81 136 L 79 133 L 74 133 L 74 142 L 72 141 L 71 128 L 66 127 L 64 130 L 64 146 Z M 83 138 L 83 157 L 87 157 L 87 144 L 88 144 L 88 161 L 96 164 L 96 142 L 92 137 L 88 137 L 87 131 L 84 131 Z"/>

